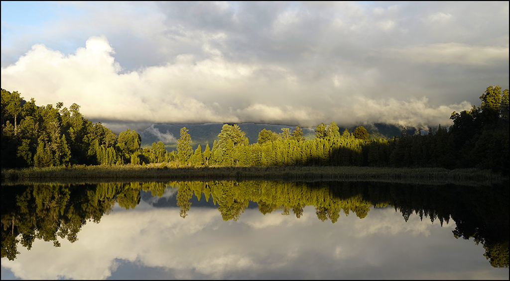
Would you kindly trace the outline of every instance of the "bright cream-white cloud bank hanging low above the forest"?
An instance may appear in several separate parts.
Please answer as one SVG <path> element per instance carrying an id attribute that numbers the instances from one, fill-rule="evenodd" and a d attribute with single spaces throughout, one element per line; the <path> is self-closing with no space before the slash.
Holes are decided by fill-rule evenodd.
<path id="1" fill-rule="evenodd" d="M 105 124 L 255 122 L 309 127 L 335 121 L 427 126 L 449 124 L 452 111 L 471 107 L 467 102 L 431 107 L 427 98 L 362 96 L 370 81 L 380 79 L 377 70 L 302 81 L 282 66 L 235 63 L 222 55 L 197 60 L 187 54 L 174 63 L 122 73 L 113 53 L 104 36 L 91 37 L 69 55 L 35 45 L 16 64 L 2 68 L 2 87 L 34 97 L 38 104 L 78 103 L 87 118 L 105 119 Z M 153 133 L 161 141 L 173 141 L 172 136 Z"/>

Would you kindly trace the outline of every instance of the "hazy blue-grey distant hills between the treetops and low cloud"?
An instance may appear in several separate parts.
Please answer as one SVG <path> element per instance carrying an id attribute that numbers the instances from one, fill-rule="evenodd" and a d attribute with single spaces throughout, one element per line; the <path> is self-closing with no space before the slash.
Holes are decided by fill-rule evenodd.
<path id="1" fill-rule="evenodd" d="M 233 125 L 233 124 L 229 124 Z M 250 144 L 257 143 L 259 138 L 259 133 L 263 129 L 270 130 L 275 133 L 281 133 L 282 128 L 289 128 L 292 132 L 296 128 L 295 126 L 286 126 L 286 125 L 271 125 L 271 124 L 255 124 L 255 123 L 242 123 L 238 124 L 241 130 L 246 134 L 248 141 Z M 181 137 L 181 129 L 186 127 L 188 129 L 188 133 L 191 136 L 193 141 L 193 149 L 195 150 L 198 145 L 202 149 L 209 144 L 209 147 L 212 148 L 214 141 L 218 141 L 218 134 L 221 132 L 221 128 L 223 127 L 223 123 L 206 123 L 206 124 L 152 124 L 147 129 L 143 130 L 140 135 L 142 137 L 142 147 L 151 146 L 154 142 L 163 142 L 165 144 L 165 148 L 168 151 L 175 150 L 177 147 L 177 139 Z M 340 133 L 344 131 L 345 128 L 349 130 L 349 132 L 353 132 L 354 129 L 358 126 L 338 126 L 340 128 Z M 368 133 L 371 137 L 384 137 L 391 138 L 393 136 L 398 136 L 401 134 L 401 129 L 394 125 L 388 124 L 374 124 L 370 126 L 365 126 Z M 311 139 L 315 134 L 314 128 L 301 128 L 303 130 L 303 136 L 307 139 Z M 409 134 L 414 134 L 415 129 L 409 128 L 407 129 Z"/>

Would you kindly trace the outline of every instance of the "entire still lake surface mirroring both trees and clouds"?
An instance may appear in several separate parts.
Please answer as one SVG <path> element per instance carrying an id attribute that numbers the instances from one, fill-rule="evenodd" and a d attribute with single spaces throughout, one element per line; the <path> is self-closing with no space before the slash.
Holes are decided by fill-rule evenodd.
<path id="1" fill-rule="evenodd" d="M 508 278 L 507 187 L 3 186 L 2 225 L 3 279 Z"/>

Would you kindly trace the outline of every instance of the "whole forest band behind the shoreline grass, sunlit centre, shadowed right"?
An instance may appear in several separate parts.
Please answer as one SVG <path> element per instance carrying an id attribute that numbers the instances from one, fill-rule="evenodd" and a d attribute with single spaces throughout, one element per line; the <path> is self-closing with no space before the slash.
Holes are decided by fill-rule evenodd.
<path id="1" fill-rule="evenodd" d="M 320 123 L 312 139 L 301 128 L 263 129 L 249 144 L 237 124 L 224 124 L 212 146 L 193 150 L 186 127 L 176 150 L 162 142 L 141 146 L 141 136 L 127 129 L 118 135 L 69 108 L 36 105 L 32 98 L 2 89 L 2 168 L 73 165 L 182 166 L 374 166 L 480 168 L 508 175 L 508 89 L 488 87 L 481 103 L 453 112 L 450 127 L 417 130 L 386 139 L 370 137 L 363 126 L 343 131 L 335 122 Z"/>

